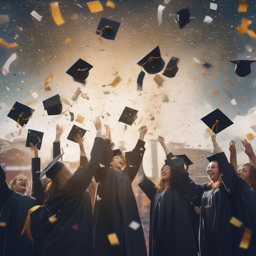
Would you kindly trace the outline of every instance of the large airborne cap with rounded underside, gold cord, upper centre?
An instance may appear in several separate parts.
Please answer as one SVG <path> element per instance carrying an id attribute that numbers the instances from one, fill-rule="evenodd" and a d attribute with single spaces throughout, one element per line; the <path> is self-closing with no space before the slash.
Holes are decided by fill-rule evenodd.
<path id="1" fill-rule="evenodd" d="M 162 71 L 165 62 L 161 57 L 159 46 L 155 47 L 148 55 L 142 58 L 138 63 L 149 74 L 155 74 Z"/>

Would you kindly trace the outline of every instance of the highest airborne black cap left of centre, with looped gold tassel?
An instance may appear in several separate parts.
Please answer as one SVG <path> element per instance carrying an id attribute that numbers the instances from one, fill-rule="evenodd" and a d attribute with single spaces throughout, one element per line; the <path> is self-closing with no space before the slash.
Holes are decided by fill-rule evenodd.
<path id="1" fill-rule="evenodd" d="M 96 34 L 102 36 L 105 39 L 114 40 L 119 26 L 120 22 L 101 18 L 96 30 Z"/>

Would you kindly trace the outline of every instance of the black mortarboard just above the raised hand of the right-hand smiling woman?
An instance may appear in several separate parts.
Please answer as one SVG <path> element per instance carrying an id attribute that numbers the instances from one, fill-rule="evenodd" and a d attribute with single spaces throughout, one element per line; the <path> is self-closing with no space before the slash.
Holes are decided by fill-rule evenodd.
<path id="1" fill-rule="evenodd" d="M 201 118 L 201 120 L 217 134 L 227 127 L 234 124 L 225 114 L 223 114 L 218 108 L 208 115 Z"/>

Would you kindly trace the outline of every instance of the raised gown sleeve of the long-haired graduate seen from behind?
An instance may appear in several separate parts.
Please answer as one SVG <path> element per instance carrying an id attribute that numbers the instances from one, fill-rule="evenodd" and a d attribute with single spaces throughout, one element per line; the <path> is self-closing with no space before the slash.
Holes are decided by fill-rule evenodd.
<path id="1" fill-rule="evenodd" d="M 90 182 L 96 172 L 97 166 L 102 157 L 104 148 L 104 139 L 96 137 L 94 139 L 93 148 L 91 150 L 91 159 L 87 165 L 79 167 L 79 169 L 68 180 L 67 185 L 72 188 L 75 193 L 82 194 L 90 185 Z"/>

